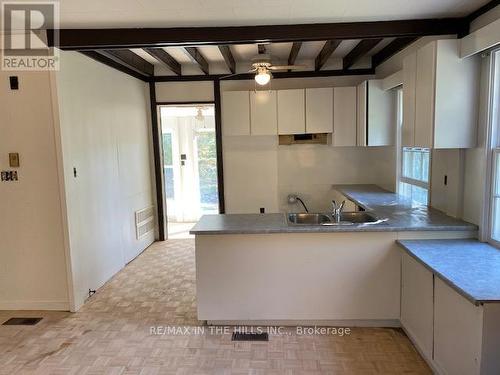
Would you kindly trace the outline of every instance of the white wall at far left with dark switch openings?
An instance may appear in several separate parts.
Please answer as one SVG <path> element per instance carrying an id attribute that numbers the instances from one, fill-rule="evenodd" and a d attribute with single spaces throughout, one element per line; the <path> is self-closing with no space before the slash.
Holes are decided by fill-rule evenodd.
<path id="1" fill-rule="evenodd" d="M 0 70 L 0 169 L 9 152 L 21 159 L 19 181 L 0 182 L 2 310 L 69 309 L 50 77 Z"/>

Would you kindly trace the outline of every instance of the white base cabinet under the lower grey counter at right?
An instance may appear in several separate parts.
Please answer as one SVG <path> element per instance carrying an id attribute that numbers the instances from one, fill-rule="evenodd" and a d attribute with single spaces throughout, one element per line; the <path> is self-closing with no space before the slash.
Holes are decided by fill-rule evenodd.
<path id="1" fill-rule="evenodd" d="M 500 303 L 476 306 L 407 253 L 401 324 L 435 373 L 500 374 Z"/>

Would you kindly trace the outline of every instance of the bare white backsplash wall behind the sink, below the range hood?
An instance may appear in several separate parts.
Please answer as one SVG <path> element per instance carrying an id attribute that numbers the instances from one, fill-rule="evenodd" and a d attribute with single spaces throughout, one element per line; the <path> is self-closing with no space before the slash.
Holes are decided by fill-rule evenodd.
<path id="1" fill-rule="evenodd" d="M 302 210 L 287 203 L 288 194 L 298 194 L 310 211 L 329 211 L 332 199 L 340 199 L 333 184 L 377 184 L 394 190 L 394 151 L 394 147 L 278 146 L 280 211 Z"/>

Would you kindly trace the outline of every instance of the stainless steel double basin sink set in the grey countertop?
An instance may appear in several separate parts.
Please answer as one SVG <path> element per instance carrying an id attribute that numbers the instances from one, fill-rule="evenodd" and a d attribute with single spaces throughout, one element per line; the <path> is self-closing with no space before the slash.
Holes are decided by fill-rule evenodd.
<path id="1" fill-rule="evenodd" d="M 353 225 L 378 224 L 383 220 L 364 212 L 342 212 L 340 220 L 335 220 L 331 214 L 290 213 L 287 216 L 290 225 Z"/>

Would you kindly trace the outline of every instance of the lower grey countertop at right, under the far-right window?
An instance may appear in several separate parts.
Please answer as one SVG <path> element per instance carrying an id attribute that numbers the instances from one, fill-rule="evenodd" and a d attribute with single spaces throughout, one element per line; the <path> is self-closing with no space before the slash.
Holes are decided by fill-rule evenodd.
<path id="1" fill-rule="evenodd" d="M 477 240 L 404 240 L 413 258 L 472 303 L 500 302 L 500 251 Z"/>

